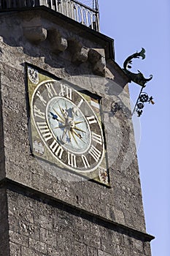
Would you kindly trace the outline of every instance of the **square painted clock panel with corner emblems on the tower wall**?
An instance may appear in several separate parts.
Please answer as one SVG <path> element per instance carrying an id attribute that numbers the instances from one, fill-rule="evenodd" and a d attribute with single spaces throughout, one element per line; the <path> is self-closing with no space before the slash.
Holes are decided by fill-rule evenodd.
<path id="1" fill-rule="evenodd" d="M 101 97 L 27 66 L 35 157 L 109 186 Z"/>

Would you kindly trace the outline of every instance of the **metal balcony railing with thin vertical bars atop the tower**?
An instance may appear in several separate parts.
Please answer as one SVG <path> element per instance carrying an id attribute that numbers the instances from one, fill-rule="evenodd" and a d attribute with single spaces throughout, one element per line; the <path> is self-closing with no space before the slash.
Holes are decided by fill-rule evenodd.
<path id="1" fill-rule="evenodd" d="M 98 10 L 93 10 L 76 0 L 0 0 L 0 11 L 42 5 L 99 31 Z"/>

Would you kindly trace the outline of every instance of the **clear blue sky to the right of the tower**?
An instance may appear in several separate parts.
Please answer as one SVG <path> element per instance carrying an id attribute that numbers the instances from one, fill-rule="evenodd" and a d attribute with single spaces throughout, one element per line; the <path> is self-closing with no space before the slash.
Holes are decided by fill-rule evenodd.
<path id="1" fill-rule="evenodd" d="M 115 39 L 115 61 L 123 61 L 141 48 L 146 59 L 135 61 L 136 69 L 150 74 L 146 91 L 155 105 L 145 105 L 140 117 L 139 171 L 147 233 L 152 256 L 170 255 L 170 2 L 169 0 L 99 0 L 101 33 Z M 139 86 L 129 84 L 135 102 Z M 136 130 L 136 133 L 139 132 Z"/>

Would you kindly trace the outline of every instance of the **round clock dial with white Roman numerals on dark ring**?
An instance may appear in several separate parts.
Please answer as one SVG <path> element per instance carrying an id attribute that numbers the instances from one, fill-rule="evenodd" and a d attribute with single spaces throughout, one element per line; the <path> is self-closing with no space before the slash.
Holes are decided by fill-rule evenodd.
<path id="1" fill-rule="evenodd" d="M 79 91 L 60 81 L 36 87 L 31 100 L 37 132 L 63 166 L 89 172 L 104 157 L 104 138 L 96 113 Z"/>

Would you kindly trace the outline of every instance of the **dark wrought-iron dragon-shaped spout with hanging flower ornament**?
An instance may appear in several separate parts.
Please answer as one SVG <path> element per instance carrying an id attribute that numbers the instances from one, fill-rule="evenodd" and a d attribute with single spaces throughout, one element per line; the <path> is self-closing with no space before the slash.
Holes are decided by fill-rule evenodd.
<path id="1" fill-rule="evenodd" d="M 153 97 L 149 97 L 147 93 L 142 92 L 142 90 L 146 86 L 146 83 L 152 79 L 152 75 L 150 75 L 150 78 L 144 78 L 144 75 L 139 70 L 138 70 L 139 73 L 133 73 L 128 70 L 128 69 L 131 69 L 132 59 L 139 59 L 140 57 L 142 57 L 142 59 L 145 59 L 144 53 L 145 53 L 145 50 L 144 48 L 142 48 L 142 50 L 139 53 L 138 52 L 134 53 L 131 56 L 129 56 L 127 59 L 125 59 L 125 62 L 123 64 L 123 71 L 129 78 L 128 82 L 129 83 L 134 82 L 139 84 L 139 86 L 142 86 L 142 89 L 139 93 L 139 97 L 136 101 L 136 105 L 134 107 L 134 111 L 132 113 L 134 114 L 134 112 L 136 111 L 138 116 L 142 115 L 145 102 L 149 102 L 149 103 L 151 102 L 152 104 L 155 104 L 155 102 L 153 102 L 152 100 Z"/>

